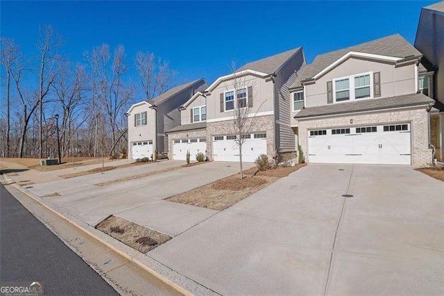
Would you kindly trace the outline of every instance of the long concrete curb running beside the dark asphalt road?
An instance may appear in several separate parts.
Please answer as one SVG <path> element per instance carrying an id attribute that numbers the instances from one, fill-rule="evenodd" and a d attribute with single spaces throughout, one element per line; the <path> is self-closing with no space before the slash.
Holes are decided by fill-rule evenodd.
<path id="1" fill-rule="evenodd" d="M 105 233 L 101 233 L 101 231 L 96 230 L 91 225 L 74 217 L 73 215 L 71 215 L 70 213 L 68 213 L 64 209 L 62 209 L 60 206 L 57 206 L 54 204 L 49 206 L 48 204 L 46 204 L 46 201 L 44 201 L 44 199 L 41 199 L 40 197 L 34 195 L 28 189 L 23 188 L 21 185 L 16 183 L 12 178 L 10 178 L 10 176 L 8 176 L 7 174 L 3 173 L 3 176 L 5 176 L 5 180 L 1 181 L 1 183 L 3 185 L 11 185 L 11 186 L 17 188 L 18 190 L 23 192 L 25 195 L 27 195 L 28 197 L 33 199 L 35 202 L 42 205 L 47 210 L 58 215 L 58 217 L 62 218 L 62 220 L 69 222 L 69 224 L 72 224 L 74 227 L 76 227 L 77 229 L 79 229 L 80 231 L 85 233 L 90 238 L 97 240 L 98 242 L 101 242 L 103 245 L 110 248 L 113 252 L 116 252 L 120 256 L 123 256 L 123 258 L 126 258 L 128 261 L 135 263 L 137 266 L 139 266 L 139 268 L 142 268 L 142 270 L 148 272 L 153 277 L 159 279 L 160 281 L 167 284 L 168 286 L 170 286 L 174 290 L 178 291 L 178 293 L 181 293 L 182 295 L 187 295 L 187 296 L 193 295 L 185 288 L 182 288 L 182 286 L 179 286 L 177 283 L 174 283 L 170 279 L 167 279 L 167 277 L 164 277 L 162 274 L 156 272 L 152 268 L 149 268 L 146 264 L 142 263 L 142 261 L 149 261 L 148 259 L 151 259 L 148 256 L 146 256 L 145 254 L 135 251 L 133 248 L 128 247 L 127 245 L 124 245 L 123 242 L 119 242 L 117 240 L 114 240 L 114 238 L 106 236 Z M 115 245 L 119 245 L 119 247 L 116 247 Z M 124 249 L 124 251 L 121 249 Z M 151 260 L 153 260 L 153 259 L 151 259 Z M 159 264 L 159 263 L 157 263 L 157 264 Z M 189 281 L 191 281 L 191 280 L 189 280 Z M 191 284 L 191 285 L 194 286 L 194 285 L 196 285 L 196 283 L 194 283 L 194 285 L 193 284 Z M 198 286 L 200 286 L 200 285 L 198 285 Z M 205 287 L 200 286 L 200 288 L 205 288 Z"/>

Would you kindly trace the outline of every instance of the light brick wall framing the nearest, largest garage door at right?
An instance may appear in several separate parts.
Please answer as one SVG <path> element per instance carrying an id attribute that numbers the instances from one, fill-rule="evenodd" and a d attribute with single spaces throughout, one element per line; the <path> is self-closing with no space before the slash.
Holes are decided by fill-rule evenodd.
<path id="1" fill-rule="evenodd" d="M 340 115 L 335 117 L 325 117 L 316 120 L 299 120 L 299 144 L 307 156 L 308 130 L 309 129 L 330 129 L 333 127 L 362 126 L 362 125 L 382 125 L 395 124 L 397 122 L 407 122 L 411 124 L 412 139 L 412 164 L 425 165 L 432 162 L 432 149 L 429 149 L 429 133 L 427 126 L 427 110 L 425 107 L 415 109 L 399 109 L 393 111 L 381 111 L 373 113 L 361 113 Z M 353 124 L 350 124 L 353 120 Z"/>

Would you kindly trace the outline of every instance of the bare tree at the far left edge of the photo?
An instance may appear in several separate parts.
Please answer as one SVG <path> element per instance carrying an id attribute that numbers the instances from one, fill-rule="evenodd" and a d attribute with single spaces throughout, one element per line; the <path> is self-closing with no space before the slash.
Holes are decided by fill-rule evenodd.
<path id="1" fill-rule="evenodd" d="M 3 150 L 3 156 L 9 157 L 10 152 L 10 85 L 12 71 L 19 59 L 19 47 L 11 38 L 1 38 L 1 65 L 6 69 L 6 147 Z"/>

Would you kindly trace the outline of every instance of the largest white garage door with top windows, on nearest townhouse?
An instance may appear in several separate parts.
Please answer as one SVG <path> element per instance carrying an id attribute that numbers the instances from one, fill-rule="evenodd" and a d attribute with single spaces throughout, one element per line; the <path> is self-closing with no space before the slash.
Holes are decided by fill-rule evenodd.
<path id="1" fill-rule="evenodd" d="M 308 132 L 310 163 L 411 164 L 410 124 Z"/>

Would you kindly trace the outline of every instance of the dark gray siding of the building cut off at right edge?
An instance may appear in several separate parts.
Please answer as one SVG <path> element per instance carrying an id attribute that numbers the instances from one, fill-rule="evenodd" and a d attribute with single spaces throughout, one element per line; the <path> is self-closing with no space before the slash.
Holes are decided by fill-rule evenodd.
<path id="1" fill-rule="evenodd" d="M 438 68 L 434 79 L 434 99 L 444 104 L 444 14 L 423 8 L 415 47 Z"/>

